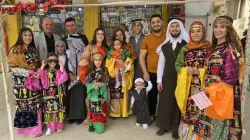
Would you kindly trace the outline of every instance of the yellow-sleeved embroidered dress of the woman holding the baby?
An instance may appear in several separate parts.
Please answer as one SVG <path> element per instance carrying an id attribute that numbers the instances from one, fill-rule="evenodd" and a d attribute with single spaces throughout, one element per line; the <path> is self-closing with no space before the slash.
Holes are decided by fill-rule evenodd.
<path id="1" fill-rule="evenodd" d="M 107 59 L 106 59 L 106 67 L 108 68 L 108 72 L 112 79 L 110 80 L 110 116 L 112 117 L 128 117 L 128 114 L 131 114 L 131 110 L 129 108 L 129 97 L 128 97 L 128 90 L 131 89 L 133 84 L 133 77 L 134 77 L 134 66 L 133 66 L 133 58 L 131 59 L 130 53 L 127 53 L 131 46 L 128 46 L 127 49 L 124 48 L 123 52 L 121 53 L 122 59 L 125 61 L 125 67 L 131 65 L 130 68 L 123 73 L 119 73 L 119 80 L 121 83 L 125 85 L 121 85 L 119 88 L 115 88 L 116 80 L 115 78 L 115 59 L 111 57 L 112 52 L 114 49 L 111 49 L 108 52 Z M 132 49 L 132 48 L 130 48 Z M 133 56 L 132 56 L 133 57 Z M 136 56 L 134 56 L 136 57 Z M 123 78 L 122 78 L 123 77 Z"/>

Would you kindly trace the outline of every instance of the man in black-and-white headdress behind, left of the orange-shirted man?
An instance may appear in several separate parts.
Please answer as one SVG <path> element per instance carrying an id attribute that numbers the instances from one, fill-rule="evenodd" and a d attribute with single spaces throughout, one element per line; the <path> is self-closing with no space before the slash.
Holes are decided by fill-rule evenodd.
<path id="1" fill-rule="evenodd" d="M 132 36 L 129 38 L 129 43 L 134 47 L 136 55 L 140 56 L 141 43 L 145 36 L 142 32 L 144 29 L 142 24 L 143 21 L 141 19 L 136 19 L 132 20 L 131 22 L 133 31 L 132 31 Z M 134 67 L 135 67 L 134 79 L 142 78 L 142 70 L 139 64 L 139 59 L 135 60 Z"/>

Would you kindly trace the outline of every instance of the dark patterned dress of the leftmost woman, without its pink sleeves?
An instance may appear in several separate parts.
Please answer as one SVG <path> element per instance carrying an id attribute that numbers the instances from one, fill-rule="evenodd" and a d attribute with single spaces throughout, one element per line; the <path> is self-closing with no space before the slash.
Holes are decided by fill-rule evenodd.
<path id="1" fill-rule="evenodd" d="M 9 52 L 8 64 L 11 67 L 16 105 L 14 127 L 37 126 L 37 109 L 42 102 L 42 94 L 41 91 L 31 91 L 24 86 L 28 71 L 39 66 L 37 51 L 33 47 L 14 46 Z"/>

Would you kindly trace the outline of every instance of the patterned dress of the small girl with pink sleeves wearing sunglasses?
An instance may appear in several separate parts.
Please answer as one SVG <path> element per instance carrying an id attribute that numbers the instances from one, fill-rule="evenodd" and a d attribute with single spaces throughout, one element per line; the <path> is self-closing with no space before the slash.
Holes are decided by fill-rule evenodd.
<path id="1" fill-rule="evenodd" d="M 43 91 L 43 107 L 44 107 L 44 113 L 45 113 L 45 123 L 53 123 L 54 114 L 57 114 L 57 121 L 56 122 L 62 122 L 63 121 L 63 112 L 64 112 L 64 106 L 63 106 L 63 93 L 64 88 L 63 85 L 57 85 L 56 84 L 56 70 L 50 70 L 46 74 L 48 75 L 49 80 L 49 88 L 44 89 Z"/>

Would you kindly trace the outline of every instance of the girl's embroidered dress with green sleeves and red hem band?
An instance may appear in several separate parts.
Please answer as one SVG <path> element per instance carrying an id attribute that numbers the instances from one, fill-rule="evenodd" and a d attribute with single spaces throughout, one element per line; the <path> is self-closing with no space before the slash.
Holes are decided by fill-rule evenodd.
<path id="1" fill-rule="evenodd" d="M 96 82 L 102 83 L 98 89 L 95 88 Z M 108 82 L 109 75 L 106 69 L 92 71 L 86 79 L 87 97 L 91 101 L 88 113 L 89 126 L 94 126 L 96 133 L 103 133 L 107 123 Z"/>

